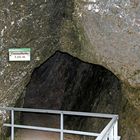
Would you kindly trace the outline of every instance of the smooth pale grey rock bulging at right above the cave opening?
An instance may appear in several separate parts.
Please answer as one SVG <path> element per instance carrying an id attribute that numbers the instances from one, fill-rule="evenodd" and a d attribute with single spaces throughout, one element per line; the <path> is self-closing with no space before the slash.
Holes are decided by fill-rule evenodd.
<path id="1" fill-rule="evenodd" d="M 139 0 L 77 0 L 77 16 L 95 54 L 123 82 L 140 87 Z M 86 47 L 86 46 L 85 46 Z"/>

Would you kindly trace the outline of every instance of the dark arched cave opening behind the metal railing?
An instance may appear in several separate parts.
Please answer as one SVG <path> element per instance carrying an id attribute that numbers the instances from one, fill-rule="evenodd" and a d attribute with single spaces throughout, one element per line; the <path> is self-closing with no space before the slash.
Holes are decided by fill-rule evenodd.
<path id="1" fill-rule="evenodd" d="M 118 114 L 120 98 L 121 84 L 112 72 L 102 66 L 82 62 L 69 54 L 56 52 L 33 71 L 24 95 L 23 107 Z M 22 113 L 21 120 L 24 124 L 34 125 L 36 122 L 35 125 L 59 126 L 57 116 L 53 115 Z M 90 130 L 93 126 L 98 126 L 99 130 L 100 126 L 97 120 L 86 120 L 88 125 L 81 118 L 66 118 L 65 121 L 72 129 L 78 127 Z M 94 125 L 89 125 L 91 123 Z M 31 135 L 37 140 L 46 139 L 46 134 L 42 132 L 24 130 L 19 134 L 24 137 L 23 140 L 31 140 Z M 38 139 L 37 136 L 41 135 L 42 138 Z M 55 134 L 49 137 L 51 139 L 56 139 Z"/>

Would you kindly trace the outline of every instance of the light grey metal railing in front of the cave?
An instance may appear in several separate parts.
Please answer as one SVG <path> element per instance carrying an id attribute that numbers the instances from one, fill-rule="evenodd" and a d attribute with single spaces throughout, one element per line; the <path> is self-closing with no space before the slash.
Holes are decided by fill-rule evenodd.
<path id="1" fill-rule="evenodd" d="M 57 132 L 57 133 L 60 133 L 60 140 L 64 140 L 64 134 L 92 136 L 92 137 L 96 137 L 96 140 L 120 140 L 120 137 L 118 136 L 118 115 L 73 112 L 73 111 L 59 111 L 59 110 L 29 109 L 29 108 L 12 108 L 12 107 L 0 107 L 0 110 L 10 111 L 10 113 L 11 113 L 11 123 L 3 124 L 4 127 L 11 128 L 11 140 L 15 139 L 15 133 L 14 133 L 15 128 Z M 57 128 L 15 124 L 15 119 L 14 119 L 15 112 L 28 112 L 28 113 L 30 112 L 30 113 L 45 113 L 45 114 L 60 115 L 60 128 L 57 129 Z M 105 118 L 105 119 L 111 119 L 111 120 L 106 125 L 106 127 L 102 130 L 101 133 L 93 133 L 93 132 L 84 132 L 84 131 L 75 131 L 75 130 L 64 129 L 64 115 Z"/>

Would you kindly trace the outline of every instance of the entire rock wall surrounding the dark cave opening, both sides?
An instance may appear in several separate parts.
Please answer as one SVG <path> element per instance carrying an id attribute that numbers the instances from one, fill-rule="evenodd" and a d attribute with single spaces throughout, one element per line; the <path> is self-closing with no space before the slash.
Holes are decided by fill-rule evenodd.
<path id="1" fill-rule="evenodd" d="M 126 103 L 121 112 L 129 116 L 123 128 L 135 128 L 128 136 L 139 139 L 138 0 L 1 0 L 0 9 L 1 106 L 14 106 L 33 69 L 60 50 L 100 64 L 121 80 Z M 31 62 L 9 62 L 8 49 L 14 47 L 31 48 Z"/>

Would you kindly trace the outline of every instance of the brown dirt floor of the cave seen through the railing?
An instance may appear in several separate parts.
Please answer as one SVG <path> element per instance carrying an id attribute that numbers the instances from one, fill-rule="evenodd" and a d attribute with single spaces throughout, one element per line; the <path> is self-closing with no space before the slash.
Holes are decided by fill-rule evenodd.
<path id="1" fill-rule="evenodd" d="M 41 114 L 23 114 L 23 124 L 59 128 L 59 117 L 42 116 Z M 43 132 L 35 130 L 19 129 L 16 133 L 15 140 L 60 140 L 60 135 L 53 132 Z M 80 140 L 78 136 L 65 135 L 64 140 Z"/>

